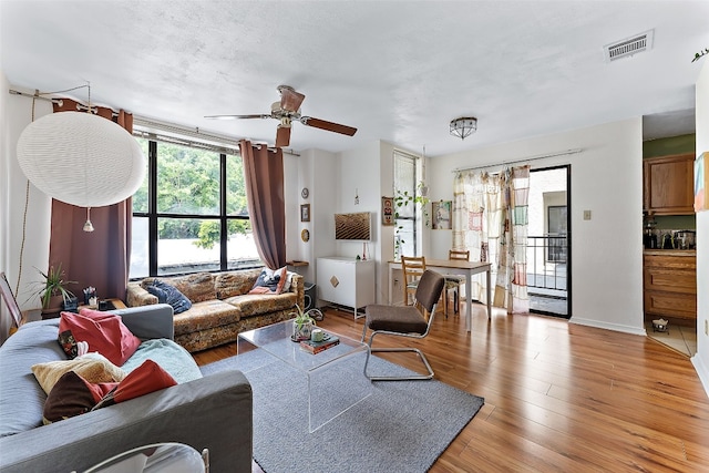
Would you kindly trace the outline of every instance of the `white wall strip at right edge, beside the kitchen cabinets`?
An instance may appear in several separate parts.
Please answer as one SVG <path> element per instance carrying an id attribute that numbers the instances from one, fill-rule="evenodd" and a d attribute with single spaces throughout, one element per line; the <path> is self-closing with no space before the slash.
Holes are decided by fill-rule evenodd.
<path id="1" fill-rule="evenodd" d="M 697 155 L 709 152 L 709 61 L 705 59 L 697 80 Z M 707 162 L 705 161 L 705 166 Z M 705 167 L 705 172 L 707 172 Z M 709 210 L 697 214 L 697 354 L 691 359 L 709 394 Z"/>

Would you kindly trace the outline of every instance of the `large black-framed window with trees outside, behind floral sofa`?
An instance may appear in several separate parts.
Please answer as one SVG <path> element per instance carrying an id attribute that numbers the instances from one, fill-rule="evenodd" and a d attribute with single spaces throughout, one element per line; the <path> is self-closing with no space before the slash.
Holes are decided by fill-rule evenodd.
<path id="1" fill-rule="evenodd" d="M 242 157 L 137 138 L 147 173 L 133 196 L 131 278 L 261 266 Z"/>

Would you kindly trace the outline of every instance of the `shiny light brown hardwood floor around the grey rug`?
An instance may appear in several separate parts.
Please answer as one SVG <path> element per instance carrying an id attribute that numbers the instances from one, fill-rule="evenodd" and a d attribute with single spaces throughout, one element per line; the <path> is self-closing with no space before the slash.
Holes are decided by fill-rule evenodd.
<path id="1" fill-rule="evenodd" d="M 319 326 L 359 339 L 362 323 L 328 310 Z M 438 380 L 485 398 L 431 472 L 709 471 L 709 399 L 689 359 L 649 338 L 500 309 L 489 321 L 474 306 L 472 333 L 439 312 L 427 339 L 404 343 Z"/>

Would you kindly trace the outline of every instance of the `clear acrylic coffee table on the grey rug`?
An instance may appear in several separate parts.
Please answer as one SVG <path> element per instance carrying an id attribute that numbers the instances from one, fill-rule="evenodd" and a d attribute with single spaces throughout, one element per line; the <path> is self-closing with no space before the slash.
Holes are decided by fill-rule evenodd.
<path id="1" fill-rule="evenodd" d="M 286 320 L 239 333 L 237 367 L 238 354 L 256 347 L 300 371 L 308 382 L 308 431 L 312 433 L 371 394 L 371 381 L 364 376 L 369 347 L 327 331 L 337 336 L 340 343 L 312 354 L 290 339 L 292 323 L 292 320 Z M 342 364 L 345 362 L 347 364 Z"/>

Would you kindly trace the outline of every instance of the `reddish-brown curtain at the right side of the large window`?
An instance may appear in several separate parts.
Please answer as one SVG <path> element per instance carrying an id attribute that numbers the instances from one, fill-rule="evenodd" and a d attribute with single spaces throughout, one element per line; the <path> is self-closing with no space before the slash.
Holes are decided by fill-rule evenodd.
<path id="1" fill-rule="evenodd" d="M 258 255 L 270 269 L 286 266 L 284 153 L 239 142 L 244 160 L 246 200 Z"/>

